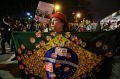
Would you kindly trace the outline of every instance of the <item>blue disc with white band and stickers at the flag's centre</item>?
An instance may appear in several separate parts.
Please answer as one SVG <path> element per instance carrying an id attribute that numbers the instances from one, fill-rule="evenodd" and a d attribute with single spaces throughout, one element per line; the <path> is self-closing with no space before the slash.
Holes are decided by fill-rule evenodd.
<path id="1" fill-rule="evenodd" d="M 48 79 L 68 79 L 75 73 L 78 65 L 76 53 L 66 47 L 54 47 L 44 56 Z"/>

